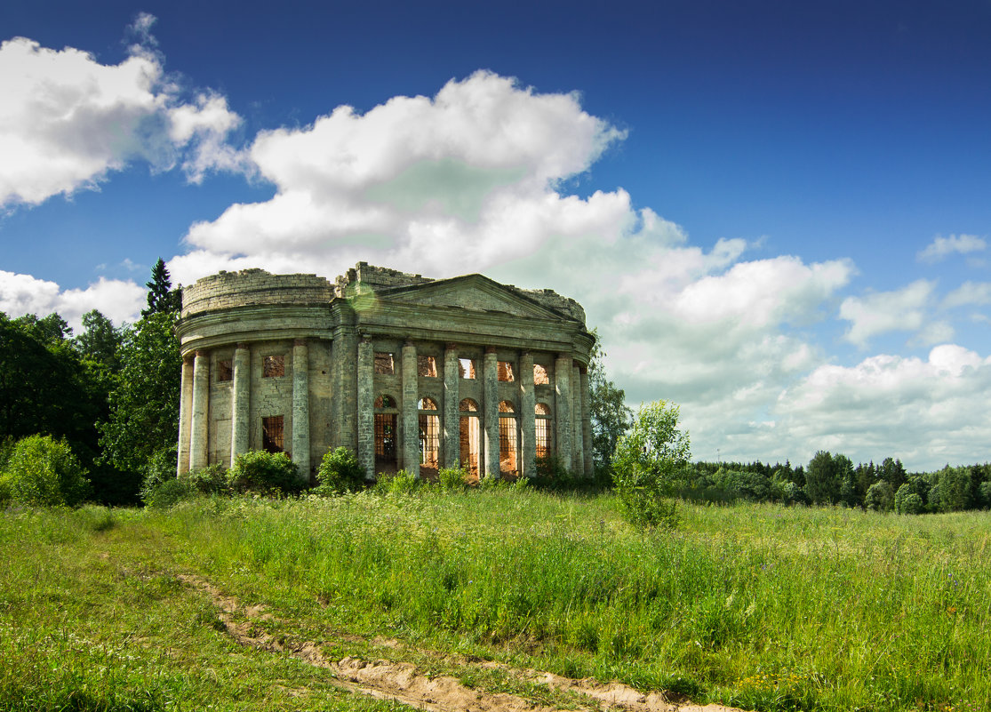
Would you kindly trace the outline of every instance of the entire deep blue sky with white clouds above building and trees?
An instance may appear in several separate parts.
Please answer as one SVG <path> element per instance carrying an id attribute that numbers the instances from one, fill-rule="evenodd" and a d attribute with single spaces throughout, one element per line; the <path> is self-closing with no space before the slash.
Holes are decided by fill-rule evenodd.
<path id="1" fill-rule="evenodd" d="M 697 457 L 988 459 L 991 3 L 310 5 L 4 3 L 0 309 L 483 272 Z"/>

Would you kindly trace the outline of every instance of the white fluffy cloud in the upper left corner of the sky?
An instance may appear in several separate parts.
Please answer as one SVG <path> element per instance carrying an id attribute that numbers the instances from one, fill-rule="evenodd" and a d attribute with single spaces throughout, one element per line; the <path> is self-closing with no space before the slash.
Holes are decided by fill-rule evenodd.
<path id="1" fill-rule="evenodd" d="M 146 39 L 154 22 L 139 17 Z M 0 205 L 38 204 L 93 187 L 141 159 L 181 163 L 193 180 L 238 166 L 224 136 L 240 118 L 209 93 L 183 101 L 160 56 L 136 45 L 118 64 L 25 38 L 0 45 Z"/>

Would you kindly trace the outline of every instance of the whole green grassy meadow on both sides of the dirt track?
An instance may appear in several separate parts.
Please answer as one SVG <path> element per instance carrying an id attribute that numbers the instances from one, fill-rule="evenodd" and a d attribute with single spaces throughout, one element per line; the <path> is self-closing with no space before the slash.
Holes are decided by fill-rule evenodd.
<path id="1" fill-rule="evenodd" d="M 385 636 L 752 710 L 991 709 L 988 513 L 681 515 L 640 532 L 611 495 L 526 488 L 9 509 L 0 710 L 394 707 L 236 645 L 184 573 L 332 657 Z"/>

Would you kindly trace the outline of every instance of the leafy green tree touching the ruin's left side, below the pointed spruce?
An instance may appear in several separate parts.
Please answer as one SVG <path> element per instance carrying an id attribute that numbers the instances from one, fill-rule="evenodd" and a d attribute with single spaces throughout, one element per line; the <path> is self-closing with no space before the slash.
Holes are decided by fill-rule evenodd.
<path id="1" fill-rule="evenodd" d="M 104 459 L 119 470 L 143 472 L 169 448 L 174 467 L 182 370 L 176 318 L 174 311 L 153 313 L 125 330 L 110 415 L 99 425 Z"/>

